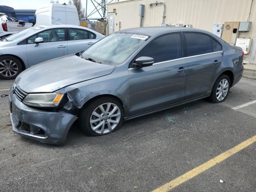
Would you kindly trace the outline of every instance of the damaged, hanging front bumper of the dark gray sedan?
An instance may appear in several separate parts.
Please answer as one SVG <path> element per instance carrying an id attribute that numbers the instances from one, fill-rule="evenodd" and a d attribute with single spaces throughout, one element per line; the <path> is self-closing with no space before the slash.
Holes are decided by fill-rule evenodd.
<path id="1" fill-rule="evenodd" d="M 77 117 L 67 112 L 31 108 L 9 94 L 12 130 L 22 136 L 49 144 L 64 144 Z"/>

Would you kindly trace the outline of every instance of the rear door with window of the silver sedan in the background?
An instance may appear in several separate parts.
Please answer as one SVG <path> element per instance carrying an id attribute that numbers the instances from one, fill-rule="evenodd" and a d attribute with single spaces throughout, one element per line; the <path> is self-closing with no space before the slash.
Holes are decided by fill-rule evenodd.
<path id="1" fill-rule="evenodd" d="M 77 28 L 68 29 L 68 54 L 81 52 L 96 42 L 96 34 Z"/>

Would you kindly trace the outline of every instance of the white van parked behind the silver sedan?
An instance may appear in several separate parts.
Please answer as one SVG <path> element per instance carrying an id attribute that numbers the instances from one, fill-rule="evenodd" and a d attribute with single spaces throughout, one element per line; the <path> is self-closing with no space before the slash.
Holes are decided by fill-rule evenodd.
<path id="1" fill-rule="evenodd" d="M 34 25 L 69 24 L 80 25 L 79 16 L 74 5 L 51 3 L 36 10 Z"/>

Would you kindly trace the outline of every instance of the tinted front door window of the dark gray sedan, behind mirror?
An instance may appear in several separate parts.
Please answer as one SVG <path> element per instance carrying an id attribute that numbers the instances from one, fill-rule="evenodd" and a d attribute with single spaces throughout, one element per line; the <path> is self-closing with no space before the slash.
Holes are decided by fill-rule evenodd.
<path id="1" fill-rule="evenodd" d="M 139 53 L 138 57 L 141 56 L 154 58 L 154 63 L 181 58 L 180 34 L 168 34 L 153 40 Z"/>

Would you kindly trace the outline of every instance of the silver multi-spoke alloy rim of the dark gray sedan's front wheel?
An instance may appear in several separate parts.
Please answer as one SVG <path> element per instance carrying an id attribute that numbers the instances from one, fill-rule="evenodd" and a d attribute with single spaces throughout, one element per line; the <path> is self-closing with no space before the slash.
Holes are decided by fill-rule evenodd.
<path id="1" fill-rule="evenodd" d="M 112 131 L 120 122 L 121 111 L 114 103 L 104 103 L 98 106 L 90 116 L 90 127 L 98 134 Z"/>

